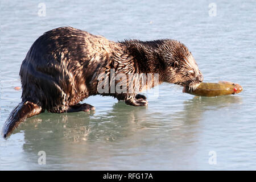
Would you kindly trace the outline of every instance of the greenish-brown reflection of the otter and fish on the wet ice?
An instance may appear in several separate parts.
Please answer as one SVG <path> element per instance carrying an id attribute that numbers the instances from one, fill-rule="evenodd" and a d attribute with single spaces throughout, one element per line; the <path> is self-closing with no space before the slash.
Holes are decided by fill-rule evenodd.
<path id="1" fill-rule="evenodd" d="M 130 156 L 138 152 L 142 155 L 143 150 L 139 151 L 142 146 L 151 146 L 157 151 L 164 145 L 166 153 L 162 155 L 168 155 L 168 160 L 175 162 L 177 156 L 181 160 L 188 155 L 188 151 L 189 155 L 196 154 L 198 143 L 195 141 L 200 130 L 195 127 L 200 129 L 205 111 L 239 108 L 241 103 L 242 99 L 237 96 L 195 97 L 184 101 L 183 109 L 169 113 L 167 109 L 154 112 L 154 107 L 147 109 L 117 102 L 109 111 L 98 109 L 96 113 L 40 114 L 27 119 L 19 130 L 23 130 L 23 150 L 30 164 L 34 163 L 32 169 L 42 168 L 36 163 L 37 154 L 42 150 L 50 158 L 47 163 L 51 164 L 51 169 L 55 166 L 60 169 L 61 164 L 64 169 L 74 167 L 69 165 L 75 165 L 76 169 L 97 169 L 103 164 L 106 168 L 102 169 L 107 169 L 116 155 Z M 189 145 L 193 145 L 193 149 Z M 180 160 L 176 162 L 180 163 Z"/>

